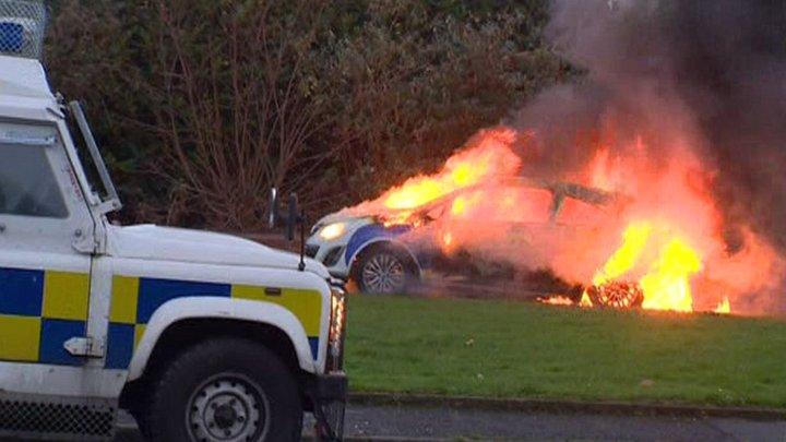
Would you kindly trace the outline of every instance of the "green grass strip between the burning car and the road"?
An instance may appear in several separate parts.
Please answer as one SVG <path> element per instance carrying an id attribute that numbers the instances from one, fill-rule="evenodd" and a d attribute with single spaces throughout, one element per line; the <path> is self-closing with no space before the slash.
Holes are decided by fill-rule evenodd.
<path id="1" fill-rule="evenodd" d="M 350 299 L 353 391 L 786 408 L 786 322 Z"/>

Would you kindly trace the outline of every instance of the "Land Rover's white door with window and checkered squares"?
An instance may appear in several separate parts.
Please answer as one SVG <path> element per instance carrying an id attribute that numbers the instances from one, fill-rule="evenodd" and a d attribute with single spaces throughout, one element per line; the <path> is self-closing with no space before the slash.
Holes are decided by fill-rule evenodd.
<path id="1" fill-rule="evenodd" d="M 0 119 L 0 392 L 84 393 L 94 224 L 58 128 Z M 78 250 L 80 249 L 80 250 Z"/>

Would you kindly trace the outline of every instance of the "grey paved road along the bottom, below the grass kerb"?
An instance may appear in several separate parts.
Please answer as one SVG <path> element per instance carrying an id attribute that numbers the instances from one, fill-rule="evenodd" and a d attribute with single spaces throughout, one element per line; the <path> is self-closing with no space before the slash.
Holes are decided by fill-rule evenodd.
<path id="1" fill-rule="evenodd" d="M 350 406 L 346 426 L 355 440 L 786 441 L 786 421 L 397 406 Z M 118 442 L 140 440 L 131 422 L 122 428 Z"/>

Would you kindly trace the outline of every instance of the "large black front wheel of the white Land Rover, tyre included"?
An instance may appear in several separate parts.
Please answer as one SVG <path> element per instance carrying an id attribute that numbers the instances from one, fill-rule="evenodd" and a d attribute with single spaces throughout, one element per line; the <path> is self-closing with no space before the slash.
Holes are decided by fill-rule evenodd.
<path id="1" fill-rule="evenodd" d="M 164 371 L 148 409 L 154 441 L 297 441 L 297 383 L 271 350 L 217 338 L 187 350 Z"/>

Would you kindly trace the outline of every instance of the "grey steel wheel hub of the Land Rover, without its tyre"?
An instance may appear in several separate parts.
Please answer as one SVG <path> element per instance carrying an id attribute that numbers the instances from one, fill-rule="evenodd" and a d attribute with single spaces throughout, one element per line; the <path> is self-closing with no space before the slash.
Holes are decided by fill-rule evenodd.
<path id="1" fill-rule="evenodd" d="M 196 390 L 187 419 L 198 441 L 257 441 L 267 428 L 267 413 L 260 389 L 242 377 L 223 375 Z"/>

